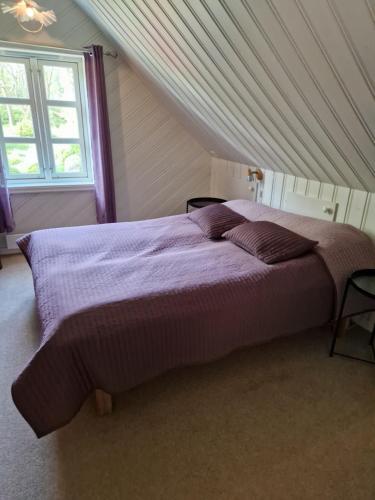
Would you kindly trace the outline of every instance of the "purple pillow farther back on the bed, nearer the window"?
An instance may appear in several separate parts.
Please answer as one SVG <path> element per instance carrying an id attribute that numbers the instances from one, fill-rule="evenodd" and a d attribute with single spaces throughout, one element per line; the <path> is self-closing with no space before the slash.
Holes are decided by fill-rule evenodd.
<path id="1" fill-rule="evenodd" d="M 247 221 L 245 217 L 221 204 L 208 205 L 188 215 L 208 238 L 220 238 L 225 231 Z"/>

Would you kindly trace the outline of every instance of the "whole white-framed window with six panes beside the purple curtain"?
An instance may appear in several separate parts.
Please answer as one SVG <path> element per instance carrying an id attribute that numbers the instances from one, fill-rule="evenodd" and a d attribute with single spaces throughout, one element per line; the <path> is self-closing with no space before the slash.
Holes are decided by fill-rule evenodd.
<path id="1" fill-rule="evenodd" d="M 91 184 L 83 58 L 0 51 L 0 151 L 8 185 Z"/>

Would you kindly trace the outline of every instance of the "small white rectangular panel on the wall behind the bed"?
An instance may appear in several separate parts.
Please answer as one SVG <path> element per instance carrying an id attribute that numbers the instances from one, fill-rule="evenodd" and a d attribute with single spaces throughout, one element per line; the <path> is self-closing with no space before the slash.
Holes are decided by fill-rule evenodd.
<path id="1" fill-rule="evenodd" d="M 285 194 L 283 206 L 287 212 L 327 221 L 336 220 L 337 207 L 338 204 L 333 201 L 319 200 L 293 191 Z"/>

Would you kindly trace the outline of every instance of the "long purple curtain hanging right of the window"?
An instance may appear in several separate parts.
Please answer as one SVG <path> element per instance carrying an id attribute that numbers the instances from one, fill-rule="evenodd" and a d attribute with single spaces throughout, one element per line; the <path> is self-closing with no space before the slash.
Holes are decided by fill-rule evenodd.
<path id="1" fill-rule="evenodd" d="M 99 224 L 116 222 L 111 137 L 105 88 L 103 47 L 85 53 L 91 149 L 95 175 L 96 218 Z"/>

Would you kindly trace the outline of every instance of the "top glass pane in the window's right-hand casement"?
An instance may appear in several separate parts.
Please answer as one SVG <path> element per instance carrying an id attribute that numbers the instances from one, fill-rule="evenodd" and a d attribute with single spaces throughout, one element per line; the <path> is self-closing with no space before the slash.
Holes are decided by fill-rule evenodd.
<path id="1" fill-rule="evenodd" d="M 47 99 L 75 101 L 74 73 L 72 68 L 43 66 Z"/>

